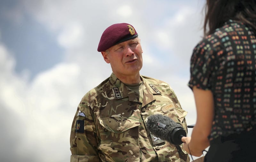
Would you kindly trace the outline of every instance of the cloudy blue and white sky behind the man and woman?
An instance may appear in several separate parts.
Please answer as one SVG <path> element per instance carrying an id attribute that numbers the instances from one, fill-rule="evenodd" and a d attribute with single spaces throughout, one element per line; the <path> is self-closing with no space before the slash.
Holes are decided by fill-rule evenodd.
<path id="1" fill-rule="evenodd" d="M 188 112 L 187 124 L 194 124 L 187 84 L 203 36 L 203 7 L 204 0 L 1 0 L 1 161 L 69 161 L 76 108 L 112 73 L 97 47 L 115 23 L 136 29 L 140 74 L 167 82 Z"/>

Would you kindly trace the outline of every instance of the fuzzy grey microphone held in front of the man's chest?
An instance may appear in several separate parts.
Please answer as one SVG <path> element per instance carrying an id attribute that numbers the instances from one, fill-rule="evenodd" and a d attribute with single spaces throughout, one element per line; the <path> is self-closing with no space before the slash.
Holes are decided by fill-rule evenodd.
<path id="1" fill-rule="evenodd" d="M 172 144 L 180 145 L 182 137 L 186 137 L 186 131 L 180 123 L 162 114 L 154 114 L 148 117 L 146 126 L 151 133 Z"/>

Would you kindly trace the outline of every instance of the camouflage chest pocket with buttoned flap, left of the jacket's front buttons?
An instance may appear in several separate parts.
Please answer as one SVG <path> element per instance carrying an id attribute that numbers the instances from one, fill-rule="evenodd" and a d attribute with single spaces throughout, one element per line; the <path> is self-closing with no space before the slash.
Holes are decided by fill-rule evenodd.
<path id="1" fill-rule="evenodd" d="M 127 117 L 98 118 L 99 150 L 108 161 L 140 161 L 140 121 Z M 125 156 L 124 156 L 125 155 Z"/>

